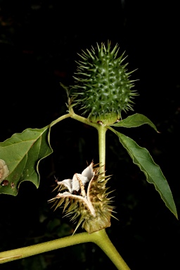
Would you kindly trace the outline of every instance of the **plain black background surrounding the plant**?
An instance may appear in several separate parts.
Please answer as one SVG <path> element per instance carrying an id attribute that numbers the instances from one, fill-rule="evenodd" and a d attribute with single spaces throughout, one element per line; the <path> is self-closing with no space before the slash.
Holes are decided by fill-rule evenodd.
<path id="1" fill-rule="evenodd" d="M 140 96 L 135 113 L 152 120 L 150 127 L 123 129 L 146 147 L 160 165 L 179 212 L 179 8 L 177 1 L 13 1 L 0 0 L 0 141 L 27 127 L 41 128 L 65 113 L 70 85 L 81 49 L 110 39 L 126 51 L 128 70 Z M 131 114 L 131 113 L 130 113 Z M 122 115 L 126 117 L 127 115 Z M 97 134 L 74 120 L 51 131 L 53 155 L 40 164 L 37 190 L 23 183 L 17 197 L 1 195 L 1 251 L 67 236 L 75 228 L 62 211 L 53 212 L 54 176 L 82 172 L 86 161 L 98 162 Z M 132 164 L 117 138 L 107 134 L 106 169 L 115 190 L 119 221 L 107 229 L 110 239 L 131 269 L 179 268 L 179 221 L 169 212 Z M 81 229 L 79 229 L 81 231 Z M 115 269 L 91 243 L 76 245 L 8 264 L 1 269 Z"/>

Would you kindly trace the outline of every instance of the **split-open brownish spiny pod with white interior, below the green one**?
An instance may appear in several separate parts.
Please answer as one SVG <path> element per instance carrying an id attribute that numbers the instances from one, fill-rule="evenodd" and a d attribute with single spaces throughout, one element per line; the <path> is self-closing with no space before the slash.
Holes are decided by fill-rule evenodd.
<path id="1" fill-rule="evenodd" d="M 91 162 L 82 174 L 56 181 L 60 186 L 59 193 L 49 201 L 55 201 L 56 208 L 64 203 L 65 216 L 71 216 L 72 221 L 79 218 L 75 231 L 82 224 L 88 233 L 94 233 L 109 227 L 110 217 L 113 217 L 113 206 L 110 205 L 112 201 L 108 198 L 110 192 L 105 187 L 109 179 L 100 174 L 99 168 L 95 169 Z"/>

